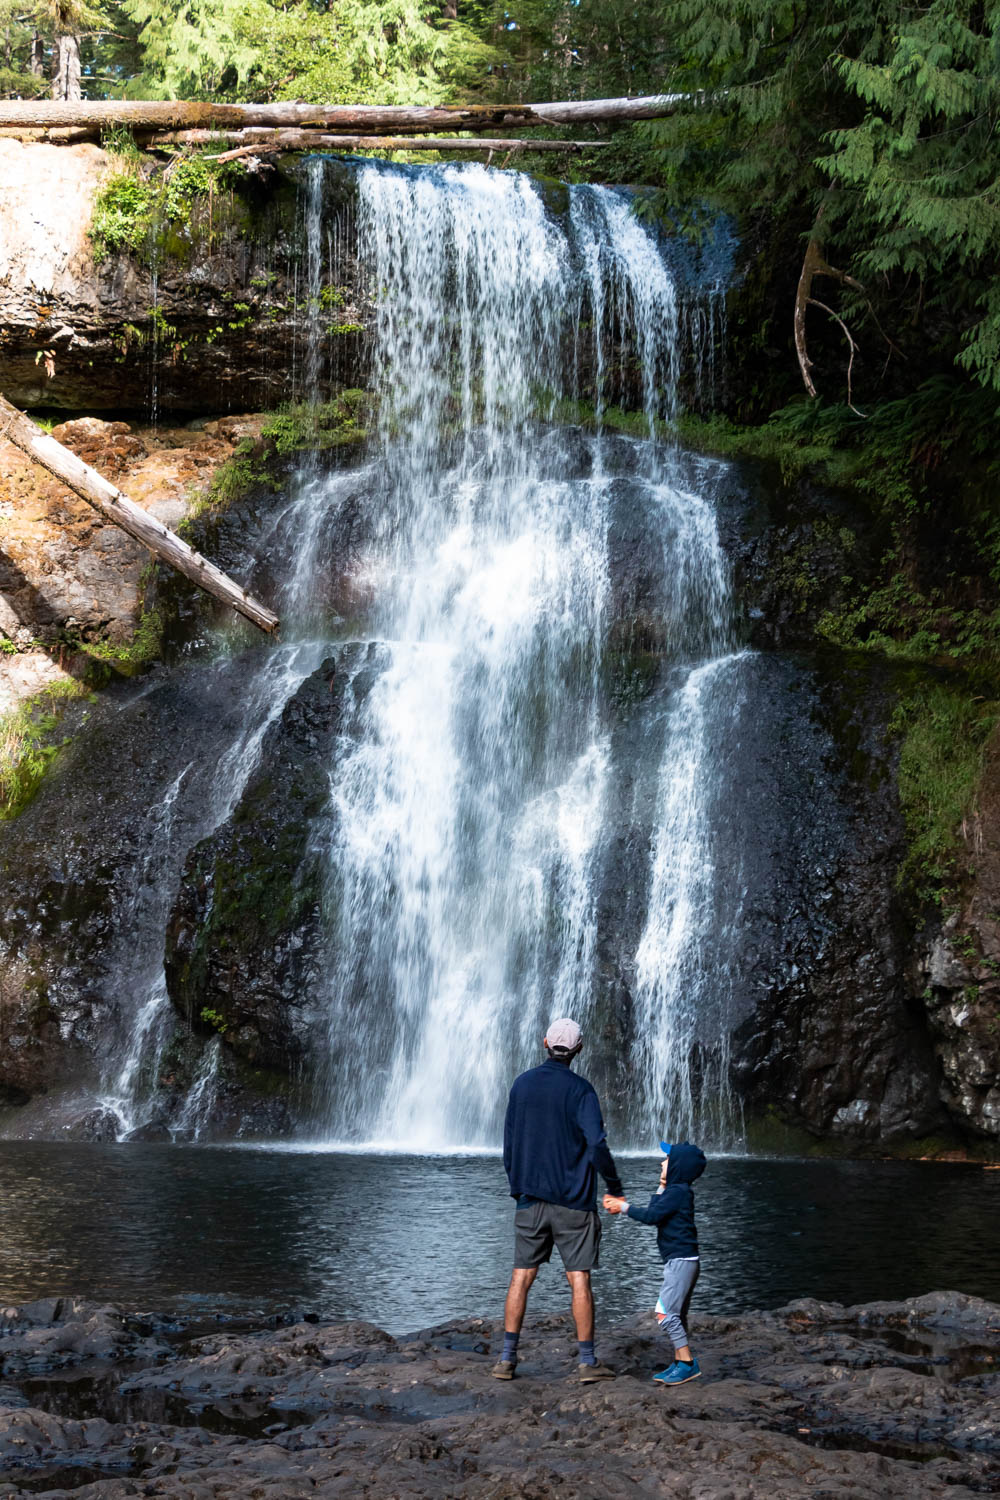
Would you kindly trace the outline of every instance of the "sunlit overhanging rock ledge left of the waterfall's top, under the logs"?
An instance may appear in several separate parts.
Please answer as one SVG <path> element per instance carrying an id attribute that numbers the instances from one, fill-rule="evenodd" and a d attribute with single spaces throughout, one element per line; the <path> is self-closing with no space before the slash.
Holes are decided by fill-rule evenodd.
<path id="1" fill-rule="evenodd" d="M 315 309 L 297 184 L 276 170 L 247 176 L 193 198 L 181 225 L 150 224 L 139 250 L 97 258 L 94 200 L 117 170 L 96 146 L 0 141 L 0 390 L 22 408 L 153 414 L 300 396 Z M 327 194 L 328 219 L 349 220 L 349 174 L 328 172 Z M 319 291 L 321 396 L 360 384 L 367 314 L 343 243 Z"/>

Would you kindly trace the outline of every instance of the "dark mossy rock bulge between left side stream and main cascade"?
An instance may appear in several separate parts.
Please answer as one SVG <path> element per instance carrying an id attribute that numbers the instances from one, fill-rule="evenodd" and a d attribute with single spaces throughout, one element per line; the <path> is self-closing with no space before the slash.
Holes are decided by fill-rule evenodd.
<path id="1" fill-rule="evenodd" d="M 169 996 L 181 1016 L 210 1014 L 253 1065 L 291 1074 L 316 1040 L 330 765 L 384 662 L 376 644 L 352 644 L 307 678 L 238 808 L 184 866 L 166 932 Z"/>

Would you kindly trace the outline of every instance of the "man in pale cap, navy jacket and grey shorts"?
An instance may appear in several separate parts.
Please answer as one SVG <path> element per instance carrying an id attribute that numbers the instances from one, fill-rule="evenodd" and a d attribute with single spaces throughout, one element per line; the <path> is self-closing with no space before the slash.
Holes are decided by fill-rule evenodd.
<path id="1" fill-rule="evenodd" d="M 622 1186 L 597 1094 L 571 1071 L 583 1046 L 580 1028 L 568 1017 L 552 1022 L 543 1046 L 546 1062 L 514 1078 L 504 1122 L 504 1167 L 510 1196 L 517 1200 L 514 1270 L 504 1305 L 504 1352 L 490 1372 L 496 1380 L 514 1378 L 528 1293 L 555 1245 L 573 1293 L 579 1377 L 589 1384 L 615 1378 L 594 1354 L 591 1270 L 601 1244 L 597 1173 L 612 1196 L 621 1196 Z"/>

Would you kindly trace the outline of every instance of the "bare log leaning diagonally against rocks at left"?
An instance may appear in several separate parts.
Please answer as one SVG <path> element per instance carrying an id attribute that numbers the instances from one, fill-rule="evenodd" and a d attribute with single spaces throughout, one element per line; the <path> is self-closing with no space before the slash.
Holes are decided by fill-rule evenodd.
<path id="1" fill-rule="evenodd" d="M 115 526 L 121 526 L 129 536 L 148 548 L 153 556 L 169 567 L 177 568 L 207 594 L 231 604 L 261 630 L 273 634 L 277 630 L 277 615 L 271 614 L 256 598 L 252 598 L 244 588 L 234 584 L 220 568 L 202 558 L 199 552 L 181 542 L 168 526 L 150 516 L 148 512 L 136 506 L 135 501 L 115 489 L 103 474 L 84 464 L 82 459 L 70 453 L 69 448 L 42 432 L 30 417 L 12 406 L 0 396 L 0 440 L 7 438 L 15 447 L 34 462 L 46 468 L 49 474 L 67 484 L 75 495 L 85 500 Z"/>

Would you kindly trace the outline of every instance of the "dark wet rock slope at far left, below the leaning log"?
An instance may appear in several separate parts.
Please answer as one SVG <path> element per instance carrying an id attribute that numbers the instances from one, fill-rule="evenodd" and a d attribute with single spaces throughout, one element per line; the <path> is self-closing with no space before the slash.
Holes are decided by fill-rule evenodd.
<path id="1" fill-rule="evenodd" d="M 130 987 L 159 969 L 156 914 L 184 850 L 220 816 L 216 771 L 240 742 L 246 670 L 238 654 L 159 669 L 73 705 L 63 729 L 79 732 L 43 794 L 0 822 L 0 1102 L 21 1110 L 72 1084 L 79 1101 L 49 1134 L 114 1130 L 87 1086 L 127 1040 Z M 190 1082 L 183 1038 L 178 1047 L 157 1076 L 165 1098 Z M 33 1126 L 24 1116 L 15 1130 Z"/>

